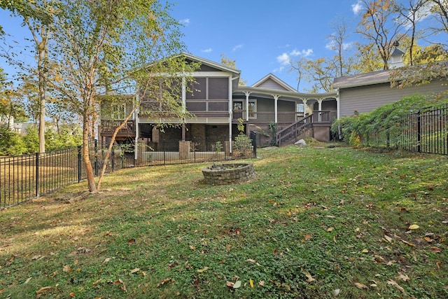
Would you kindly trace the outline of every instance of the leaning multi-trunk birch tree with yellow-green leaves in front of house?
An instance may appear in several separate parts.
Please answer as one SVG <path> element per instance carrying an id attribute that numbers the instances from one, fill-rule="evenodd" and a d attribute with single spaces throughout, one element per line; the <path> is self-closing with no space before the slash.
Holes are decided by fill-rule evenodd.
<path id="1" fill-rule="evenodd" d="M 183 47 L 179 24 L 169 15 L 169 9 L 168 4 L 162 6 L 158 1 L 74 0 L 64 3 L 62 14 L 56 19 L 53 38 L 59 51 L 51 55 L 57 62 L 51 71 L 51 87 L 82 119 L 82 153 L 91 192 L 99 189 L 88 148 L 99 95 L 136 95 L 134 109 L 116 128 L 118 132 L 139 109 L 141 100 L 160 86 L 153 84 L 160 74 L 174 80 L 174 74 L 188 73 L 179 57 L 167 59 Z M 132 89 L 136 85 L 139 89 Z M 179 106 L 179 102 L 176 104 Z M 184 110 L 177 109 L 177 115 Z"/>

